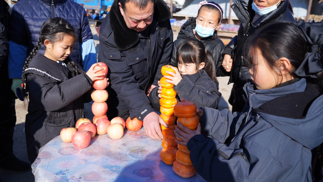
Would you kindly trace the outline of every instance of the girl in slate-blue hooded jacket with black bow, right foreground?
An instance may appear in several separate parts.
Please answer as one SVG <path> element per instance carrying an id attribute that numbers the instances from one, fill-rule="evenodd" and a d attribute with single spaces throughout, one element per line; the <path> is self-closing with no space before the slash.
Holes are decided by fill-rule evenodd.
<path id="1" fill-rule="evenodd" d="M 312 181 L 311 149 L 323 142 L 322 35 L 321 23 L 257 30 L 246 43 L 253 82 L 243 111 L 198 108 L 196 131 L 177 123 L 177 142 L 206 181 Z"/>

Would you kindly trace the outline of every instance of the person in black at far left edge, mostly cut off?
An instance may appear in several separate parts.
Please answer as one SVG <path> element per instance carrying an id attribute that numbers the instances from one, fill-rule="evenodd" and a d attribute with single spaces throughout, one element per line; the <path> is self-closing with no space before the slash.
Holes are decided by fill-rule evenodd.
<path id="1" fill-rule="evenodd" d="M 9 5 L 0 0 L 0 168 L 14 171 L 28 171 L 30 165 L 16 158 L 13 154 L 13 135 L 16 125 L 15 94 L 10 87 L 12 80 L 8 78 L 9 41 L 7 28 L 10 22 Z M 0 180 L 1 181 L 1 180 Z"/>

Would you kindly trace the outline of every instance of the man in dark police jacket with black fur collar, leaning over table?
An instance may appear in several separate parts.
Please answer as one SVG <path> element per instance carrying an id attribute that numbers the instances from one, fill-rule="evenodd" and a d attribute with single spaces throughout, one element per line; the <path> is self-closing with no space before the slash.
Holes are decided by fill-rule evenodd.
<path id="1" fill-rule="evenodd" d="M 100 28 L 99 62 L 109 67 L 108 117 L 143 121 L 146 134 L 163 137 L 167 126 L 151 107 L 147 94 L 170 63 L 173 33 L 170 11 L 162 0 L 115 0 Z"/>

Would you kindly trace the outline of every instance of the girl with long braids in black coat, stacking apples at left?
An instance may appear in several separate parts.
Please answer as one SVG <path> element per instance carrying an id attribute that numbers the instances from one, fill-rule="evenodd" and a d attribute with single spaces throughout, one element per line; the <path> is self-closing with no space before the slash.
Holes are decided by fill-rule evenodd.
<path id="1" fill-rule="evenodd" d="M 22 76 L 22 86 L 29 90 L 26 115 L 27 154 L 31 163 L 39 148 L 59 135 L 62 128 L 74 127 L 84 118 L 83 94 L 89 95 L 91 83 L 103 79 L 93 64 L 85 72 L 68 56 L 75 43 L 74 28 L 67 20 L 56 17 L 44 22 L 36 47 L 27 58 Z M 45 45 L 45 54 L 37 54 Z M 85 99 L 88 97 L 85 97 Z M 88 102 L 90 101 L 90 97 Z"/>

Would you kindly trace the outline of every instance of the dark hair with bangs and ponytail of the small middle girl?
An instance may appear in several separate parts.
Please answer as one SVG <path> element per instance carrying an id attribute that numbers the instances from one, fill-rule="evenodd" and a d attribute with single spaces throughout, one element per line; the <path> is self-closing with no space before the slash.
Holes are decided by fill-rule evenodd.
<path id="1" fill-rule="evenodd" d="M 217 82 L 213 55 L 210 51 L 205 50 L 205 46 L 200 40 L 188 38 L 182 41 L 177 48 L 176 60 L 177 62 L 194 63 L 197 71 L 200 63 L 204 62 L 203 69 L 214 82 Z"/>

